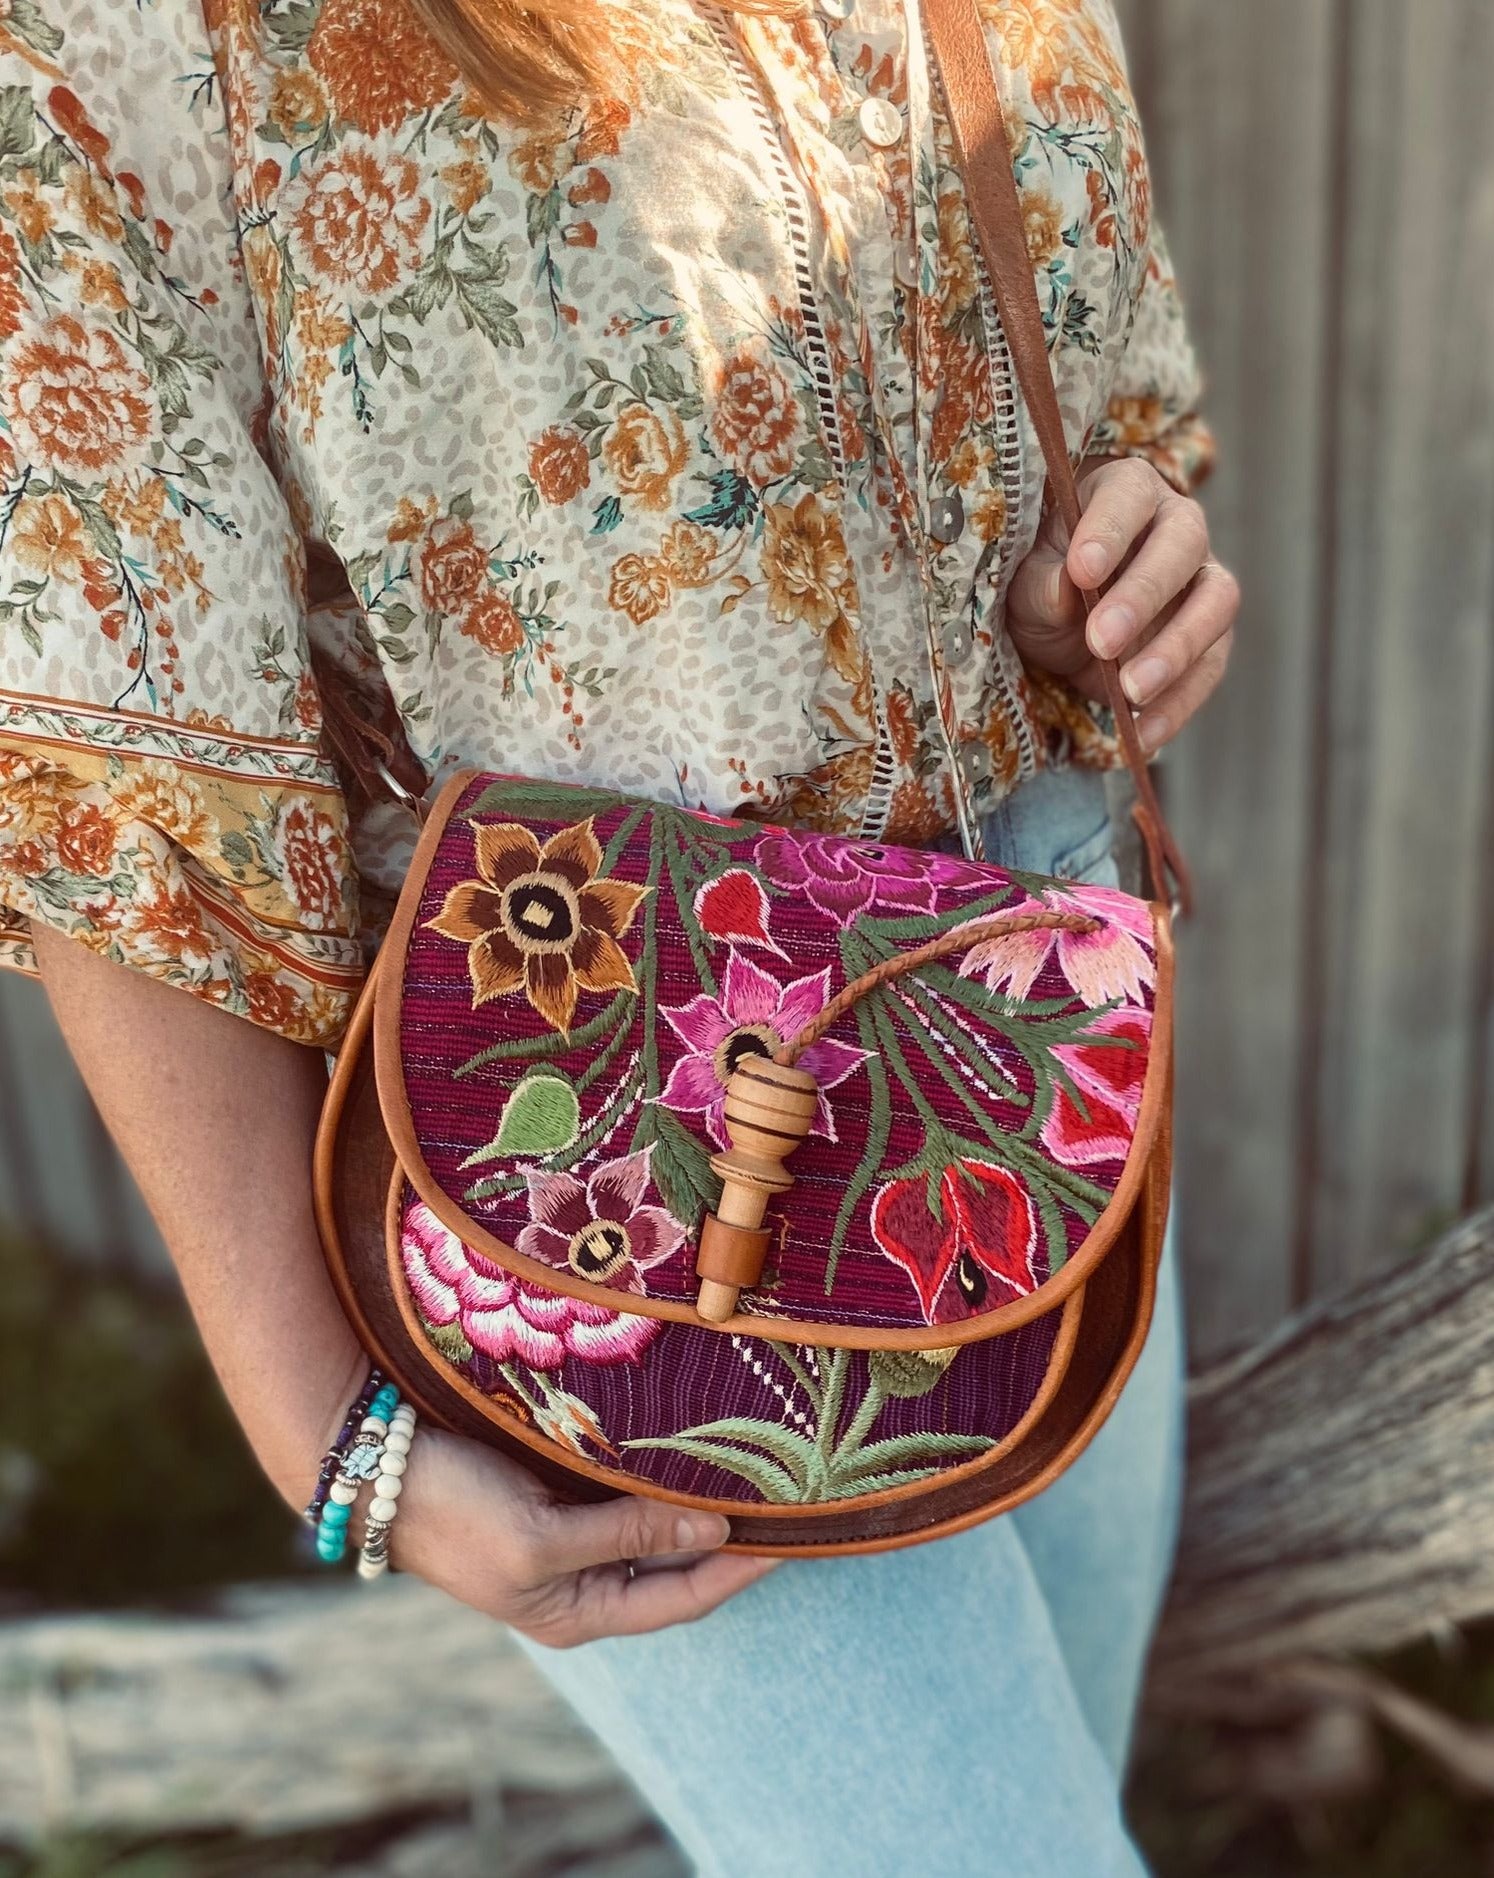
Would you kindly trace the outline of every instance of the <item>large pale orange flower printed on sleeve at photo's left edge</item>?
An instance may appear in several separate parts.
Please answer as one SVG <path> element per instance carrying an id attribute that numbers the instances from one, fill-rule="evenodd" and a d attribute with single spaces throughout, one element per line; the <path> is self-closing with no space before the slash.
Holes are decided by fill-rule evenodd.
<path id="1" fill-rule="evenodd" d="M 154 432 L 150 379 L 114 332 L 73 314 L 15 347 L 0 404 L 21 451 L 60 475 L 98 477 L 135 460 Z"/>

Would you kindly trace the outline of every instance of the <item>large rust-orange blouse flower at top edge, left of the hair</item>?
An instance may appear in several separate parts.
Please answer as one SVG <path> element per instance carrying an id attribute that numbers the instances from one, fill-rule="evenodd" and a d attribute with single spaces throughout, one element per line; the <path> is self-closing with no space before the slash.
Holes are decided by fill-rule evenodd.
<path id="1" fill-rule="evenodd" d="M 306 56 L 336 115 L 368 135 L 439 105 L 458 79 L 402 0 L 325 0 Z"/>

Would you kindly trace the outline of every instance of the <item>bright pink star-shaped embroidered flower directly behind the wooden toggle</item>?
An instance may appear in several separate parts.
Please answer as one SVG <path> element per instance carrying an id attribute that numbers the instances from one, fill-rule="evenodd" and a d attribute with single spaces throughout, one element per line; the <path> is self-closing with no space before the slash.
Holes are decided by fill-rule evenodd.
<path id="1" fill-rule="evenodd" d="M 779 984 L 741 952 L 732 952 L 721 982 L 721 997 L 693 997 L 674 1010 L 661 1007 L 670 1027 L 685 1042 L 687 1055 L 670 1070 L 659 1101 L 664 1108 L 706 1117 L 711 1138 L 723 1147 L 726 1138 L 726 1084 L 749 1055 L 771 1055 L 781 1042 L 796 1037 L 803 1025 L 826 1007 L 830 997 L 830 967 L 792 984 Z M 811 1134 L 835 1140 L 835 1121 L 830 1114 L 826 1089 L 845 1082 L 865 1061 L 865 1050 L 822 1037 L 800 1057 L 820 1085 Z"/>

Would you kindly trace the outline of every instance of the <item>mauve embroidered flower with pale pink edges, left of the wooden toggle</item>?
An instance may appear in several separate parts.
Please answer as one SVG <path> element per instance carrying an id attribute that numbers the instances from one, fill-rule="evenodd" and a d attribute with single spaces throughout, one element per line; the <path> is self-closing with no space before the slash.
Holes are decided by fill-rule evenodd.
<path id="1" fill-rule="evenodd" d="M 644 1202 L 651 1153 L 604 1161 L 586 1185 L 574 1174 L 527 1174 L 529 1224 L 516 1249 L 593 1285 L 642 1292 L 644 1273 L 685 1243 L 674 1213 Z"/>

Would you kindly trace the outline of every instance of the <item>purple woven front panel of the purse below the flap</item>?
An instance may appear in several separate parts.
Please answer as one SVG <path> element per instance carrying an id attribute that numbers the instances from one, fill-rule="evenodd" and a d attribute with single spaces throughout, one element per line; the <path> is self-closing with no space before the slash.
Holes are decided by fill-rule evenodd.
<path id="1" fill-rule="evenodd" d="M 402 1258 L 434 1347 L 507 1416 L 670 1493 L 751 1504 L 980 1459 L 1042 1388 L 1060 1315 L 957 1352 L 865 1354 L 599 1313 L 488 1264 L 409 1189 Z"/>

